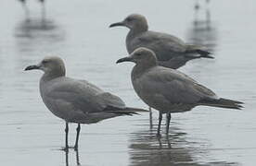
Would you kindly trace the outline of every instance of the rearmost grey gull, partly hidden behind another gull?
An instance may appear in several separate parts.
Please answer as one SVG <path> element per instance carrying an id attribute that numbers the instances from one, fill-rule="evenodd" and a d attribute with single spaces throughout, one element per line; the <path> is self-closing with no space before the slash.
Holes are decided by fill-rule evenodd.
<path id="1" fill-rule="evenodd" d="M 136 48 L 146 47 L 156 53 L 159 65 L 162 66 L 176 69 L 192 59 L 213 58 L 203 46 L 186 44 L 173 35 L 148 30 L 147 19 L 142 15 L 132 14 L 109 27 L 116 26 L 130 29 L 126 37 L 128 53 L 134 52 Z"/>

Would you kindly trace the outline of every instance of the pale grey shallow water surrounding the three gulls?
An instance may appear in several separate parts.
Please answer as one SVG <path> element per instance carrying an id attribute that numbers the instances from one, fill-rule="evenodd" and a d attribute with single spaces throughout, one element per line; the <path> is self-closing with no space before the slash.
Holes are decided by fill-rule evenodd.
<path id="1" fill-rule="evenodd" d="M 17 1 L 2 0 L 0 15 L 0 163 L 16 165 L 253 165 L 256 162 L 255 1 L 215 0 L 196 13 L 194 1 L 29 1 L 30 20 Z M 131 3 L 131 4 L 130 4 Z M 135 4 L 137 3 L 137 4 Z M 145 6 L 147 3 L 147 6 Z M 158 140 L 148 114 L 83 125 L 79 154 L 64 146 L 64 123 L 41 101 L 42 73 L 24 72 L 46 54 L 61 56 L 68 76 L 118 94 L 127 105 L 147 108 L 130 81 L 124 28 L 110 23 L 139 12 L 151 30 L 207 45 L 214 60 L 195 60 L 181 70 L 219 96 L 244 101 L 243 111 L 198 107 L 173 114 L 171 135 Z M 157 124 L 157 112 L 153 122 Z M 162 130 L 164 131 L 164 125 Z M 75 125 L 70 127 L 73 144 Z M 79 160 L 78 160 L 79 158 Z"/>

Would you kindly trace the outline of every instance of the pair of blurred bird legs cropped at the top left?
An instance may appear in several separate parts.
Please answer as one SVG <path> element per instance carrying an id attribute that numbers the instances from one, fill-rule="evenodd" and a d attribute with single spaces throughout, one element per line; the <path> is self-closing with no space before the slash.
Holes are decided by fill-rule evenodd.
<path id="1" fill-rule="evenodd" d="M 31 12 L 27 5 L 27 0 L 19 0 L 21 3 L 24 11 L 25 11 L 25 17 L 27 21 L 31 20 Z M 45 0 L 38 0 L 38 2 L 41 4 L 41 18 L 44 20 L 46 18 L 46 9 L 45 9 Z"/>

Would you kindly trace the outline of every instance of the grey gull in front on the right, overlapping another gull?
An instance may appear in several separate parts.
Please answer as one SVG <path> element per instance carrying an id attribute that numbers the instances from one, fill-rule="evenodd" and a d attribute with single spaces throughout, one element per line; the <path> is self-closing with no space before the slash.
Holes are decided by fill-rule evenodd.
<path id="1" fill-rule="evenodd" d="M 167 113 L 168 136 L 171 113 L 184 113 L 200 105 L 237 110 L 243 108 L 243 102 L 220 98 L 184 73 L 158 65 L 156 53 L 150 49 L 137 48 L 116 63 L 122 62 L 135 63 L 132 71 L 134 90 L 149 107 L 159 111 L 158 137 L 163 113 Z"/>

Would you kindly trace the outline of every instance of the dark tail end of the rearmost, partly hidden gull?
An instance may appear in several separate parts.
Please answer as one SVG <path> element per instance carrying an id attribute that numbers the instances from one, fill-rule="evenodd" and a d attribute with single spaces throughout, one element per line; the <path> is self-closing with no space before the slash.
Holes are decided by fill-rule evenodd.
<path id="1" fill-rule="evenodd" d="M 213 56 L 211 56 L 211 52 L 209 52 L 205 47 L 199 46 L 199 45 L 193 45 L 193 44 L 187 44 L 186 45 L 186 53 L 197 53 L 200 54 L 199 56 L 194 56 L 196 58 L 211 58 L 214 59 Z"/>

